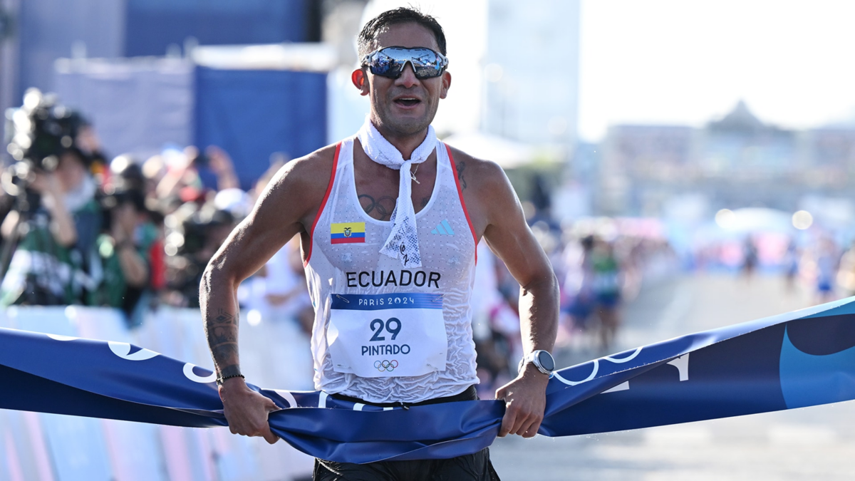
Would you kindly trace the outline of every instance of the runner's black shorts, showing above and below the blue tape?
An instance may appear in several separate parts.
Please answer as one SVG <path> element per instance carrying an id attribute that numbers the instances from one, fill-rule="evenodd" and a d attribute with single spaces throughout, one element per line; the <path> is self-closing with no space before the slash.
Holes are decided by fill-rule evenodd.
<path id="1" fill-rule="evenodd" d="M 372 406 L 394 407 L 401 403 L 365 402 L 345 395 L 330 395 L 343 401 L 362 402 Z M 429 399 L 404 406 L 422 406 L 451 401 L 475 401 L 475 386 L 458 395 Z M 315 481 L 499 481 L 490 462 L 490 449 L 449 460 L 378 461 L 368 464 L 337 463 L 315 460 Z"/>

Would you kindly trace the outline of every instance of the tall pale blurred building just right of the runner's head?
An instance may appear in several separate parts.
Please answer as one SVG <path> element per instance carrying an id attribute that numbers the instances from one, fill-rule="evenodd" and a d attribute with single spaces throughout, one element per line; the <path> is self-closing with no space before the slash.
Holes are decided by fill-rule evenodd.
<path id="1" fill-rule="evenodd" d="M 530 145 L 575 145 L 578 0 L 489 0 L 482 128 Z"/>

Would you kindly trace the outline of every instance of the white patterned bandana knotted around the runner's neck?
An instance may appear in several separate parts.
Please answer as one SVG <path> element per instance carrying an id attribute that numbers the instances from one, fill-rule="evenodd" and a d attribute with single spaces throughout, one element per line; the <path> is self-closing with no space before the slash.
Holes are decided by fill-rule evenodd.
<path id="1" fill-rule="evenodd" d="M 433 126 L 428 126 L 428 135 L 422 145 L 413 151 L 410 160 L 404 160 L 398 148 L 377 131 L 368 116 L 365 117 L 363 128 L 360 128 L 357 133 L 357 139 L 362 143 L 363 151 L 371 160 L 389 169 L 401 171 L 401 179 L 398 182 L 398 201 L 395 203 L 395 210 L 392 211 L 392 233 L 389 234 L 386 243 L 380 247 L 380 253 L 400 259 L 404 267 L 422 267 L 410 168 L 414 163 L 428 160 L 428 156 L 436 147 L 436 133 L 433 131 Z"/>

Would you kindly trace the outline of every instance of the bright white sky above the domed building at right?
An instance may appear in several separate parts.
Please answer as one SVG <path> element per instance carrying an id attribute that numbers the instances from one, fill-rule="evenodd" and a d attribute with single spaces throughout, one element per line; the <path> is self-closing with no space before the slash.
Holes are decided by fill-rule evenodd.
<path id="1" fill-rule="evenodd" d="M 582 0 L 579 133 L 703 125 L 740 100 L 764 122 L 855 126 L 855 2 Z"/>

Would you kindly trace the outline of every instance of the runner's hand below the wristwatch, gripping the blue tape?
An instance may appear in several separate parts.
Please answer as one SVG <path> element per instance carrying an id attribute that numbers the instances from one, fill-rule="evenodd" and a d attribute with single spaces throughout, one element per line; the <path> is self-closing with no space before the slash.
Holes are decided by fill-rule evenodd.
<path id="1" fill-rule="evenodd" d="M 549 376 L 528 363 L 510 383 L 496 390 L 496 399 L 504 400 L 504 418 L 498 436 L 518 434 L 534 437 L 546 408 L 546 384 Z"/>

